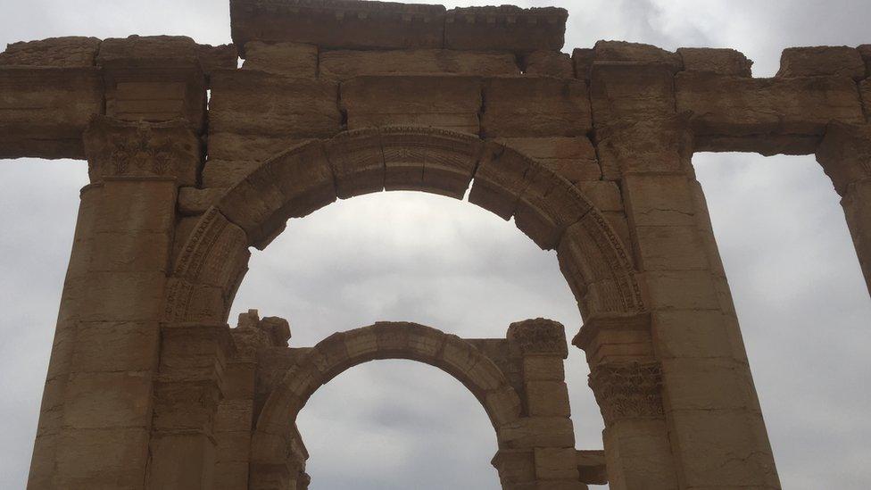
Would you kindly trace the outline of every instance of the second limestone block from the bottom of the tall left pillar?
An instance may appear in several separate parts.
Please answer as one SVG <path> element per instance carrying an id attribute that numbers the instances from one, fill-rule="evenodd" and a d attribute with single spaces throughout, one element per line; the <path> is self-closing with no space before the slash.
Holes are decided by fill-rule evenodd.
<path id="1" fill-rule="evenodd" d="M 149 371 L 71 374 L 64 390 L 63 426 L 148 428 L 153 403 L 152 378 Z"/>

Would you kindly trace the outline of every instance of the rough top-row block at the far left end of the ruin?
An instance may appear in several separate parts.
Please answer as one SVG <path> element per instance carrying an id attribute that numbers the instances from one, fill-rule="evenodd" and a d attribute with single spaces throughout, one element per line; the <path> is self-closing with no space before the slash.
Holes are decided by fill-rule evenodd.
<path id="1" fill-rule="evenodd" d="M 0 66 L 90 67 L 94 66 L 100 42 L 96 37 L 51 37 L 12 43 L 0 53 Z"/>

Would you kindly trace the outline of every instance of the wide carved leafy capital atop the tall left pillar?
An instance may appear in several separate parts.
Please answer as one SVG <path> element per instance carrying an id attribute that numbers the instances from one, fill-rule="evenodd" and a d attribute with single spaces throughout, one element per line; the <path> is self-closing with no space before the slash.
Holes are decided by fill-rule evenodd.
<path id="1" fill-rule="evenodd" d="M 201 153 L 199 138 L 181 120 L 147 123 L 95 116 L 85 131 L 91 182 L 166 178 L 194 186 Z"/>

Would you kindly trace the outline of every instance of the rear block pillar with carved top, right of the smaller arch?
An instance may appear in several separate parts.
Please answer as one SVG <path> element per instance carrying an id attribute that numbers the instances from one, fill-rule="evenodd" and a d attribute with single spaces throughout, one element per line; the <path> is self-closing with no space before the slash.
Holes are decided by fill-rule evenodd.
<path id="1" fill-rule="evenodd" d="M 566 333 L 551 320 L 525 320 L 508 329 L 511 352 L 519 352 L 522 402 L 532 437 L 500 448 L 493 464 L 505 489 L 585 490 L 577 473 L 575 437 L 563 361 Z M 566 436 L 560 436 L 568 428 Z"/>

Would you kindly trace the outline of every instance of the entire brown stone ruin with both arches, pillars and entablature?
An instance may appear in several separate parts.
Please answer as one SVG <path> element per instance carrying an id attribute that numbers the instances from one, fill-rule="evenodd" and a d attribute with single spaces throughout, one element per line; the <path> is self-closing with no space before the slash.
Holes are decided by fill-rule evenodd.
<path id="1" fill-rule="evenodd" d="M 87 159 L 91 181 L 29 488 L 305 488 L 297 412 L 385 358 L 469 388 L 506 489 L 780 488 L 691 160 L 816 154 L 871 283 L 871 46 L 787 49 L 756 79 L 730 49 L 562 54 L 559 8 L 230 9 L 228 46 L 64 37 L 0 54 L 0 157 Z M 549 320 L 497 339 L 377 323 L 310 348 L 256 311 L 228 327 L 250 247 L 398 189 L 468 190 L 557 251 L 604 451 L 576 449 Z"/>

